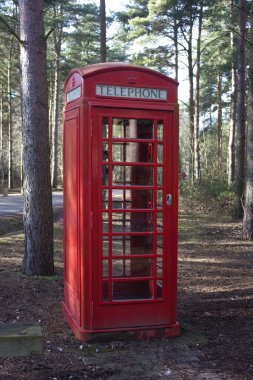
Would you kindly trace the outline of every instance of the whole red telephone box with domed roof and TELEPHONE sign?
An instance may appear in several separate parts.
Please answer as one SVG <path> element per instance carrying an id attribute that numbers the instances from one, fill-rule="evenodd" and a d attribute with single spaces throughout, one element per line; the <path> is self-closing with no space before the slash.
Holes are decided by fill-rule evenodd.
<path id="1" fill-rule="evenodd" d="M 129 64 L 70 72 L 64 302 L 82 341 L 176 336 L 177 82 Z"/>

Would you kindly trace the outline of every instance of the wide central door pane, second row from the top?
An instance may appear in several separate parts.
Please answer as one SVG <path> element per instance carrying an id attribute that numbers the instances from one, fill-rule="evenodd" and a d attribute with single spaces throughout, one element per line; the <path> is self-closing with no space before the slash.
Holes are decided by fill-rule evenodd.
<path id="1" fill-rule="evenodd" d="M 153 144 L 145 142 L 112 143 L 114 162 L 153 162 Z"/>

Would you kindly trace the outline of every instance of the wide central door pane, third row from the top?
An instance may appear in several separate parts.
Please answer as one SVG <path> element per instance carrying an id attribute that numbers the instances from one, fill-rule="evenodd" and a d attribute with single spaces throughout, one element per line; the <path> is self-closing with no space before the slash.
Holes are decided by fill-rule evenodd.
<path id="1" fill-rule="evenodd" d="M 154 169 L 148 166 L 113 166 L 112 184 L 152 186 Z"/>

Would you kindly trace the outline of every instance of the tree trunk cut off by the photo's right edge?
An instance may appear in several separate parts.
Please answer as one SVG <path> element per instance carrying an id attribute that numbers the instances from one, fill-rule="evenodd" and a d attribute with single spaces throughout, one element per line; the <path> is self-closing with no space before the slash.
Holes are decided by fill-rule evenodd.
<path id="1" fill-rule="evenodd" d="M 243 218 L 244 237 L 253 240 L 253 1 L 250 14 L 247 174 Z"/>

